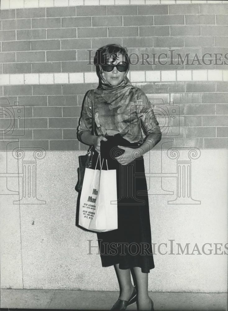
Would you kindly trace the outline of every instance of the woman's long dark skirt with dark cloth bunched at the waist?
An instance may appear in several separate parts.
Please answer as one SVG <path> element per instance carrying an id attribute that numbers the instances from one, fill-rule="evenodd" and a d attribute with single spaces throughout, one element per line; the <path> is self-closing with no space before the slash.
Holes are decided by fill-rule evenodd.
<path id="1" fill-rule="evenodd" d="M 106 136 L 108 141 L 100 142 L 102 169 L 116 169 L 118 229 L 97 232 L 102 267 L 119 263 L 120 269 L 141 267 L 144 273 L 153 269 L 154 260 L 151 245 L 151 226 L 147 181 L 143 157 L 127 165 L 121 165 L 114 158 L 124 153 L 117 147 L 138 148 L 138 143 L 130 143 L 120 134 Z M 98 152 L 93 156 L 95 168 Z M 100 169 L 98 160 L 97 169 Z"/>

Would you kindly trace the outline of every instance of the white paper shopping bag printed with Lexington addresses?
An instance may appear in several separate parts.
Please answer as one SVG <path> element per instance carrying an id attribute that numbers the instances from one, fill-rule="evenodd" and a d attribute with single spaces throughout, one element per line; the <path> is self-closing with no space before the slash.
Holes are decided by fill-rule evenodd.
<path id="1" fill-rule="evenodd" d="M 116 170 L 102 170 L 102 165 L 85 169 L 79 206 L 79 225 L 96 232 L 118 228 Z"/>

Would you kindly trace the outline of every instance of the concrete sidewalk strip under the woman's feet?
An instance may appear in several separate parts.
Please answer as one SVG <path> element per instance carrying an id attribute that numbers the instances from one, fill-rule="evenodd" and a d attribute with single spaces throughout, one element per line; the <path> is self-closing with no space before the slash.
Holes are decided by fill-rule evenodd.
<path id="1" fill-rule="evenodd" d="M 150 292 L 155 310 L 227 311 L 227 293 Z M 1 308 L 110 310 L 119 292 L 1 289 Z M 127 310 L 137 310 L 136 303 Z"/>

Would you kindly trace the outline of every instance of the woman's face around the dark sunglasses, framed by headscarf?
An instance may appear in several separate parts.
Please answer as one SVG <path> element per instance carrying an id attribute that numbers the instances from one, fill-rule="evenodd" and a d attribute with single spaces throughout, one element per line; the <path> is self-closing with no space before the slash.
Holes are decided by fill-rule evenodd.
<path id="1" fill-rule="evenodd" d="M 107 63 L 110 63 L 112 65 L 116 65 L 118 63 L 124 63 L 124 62 L 126 62 L 126 56 L 124 54 L 117 54 L 117 58 L 115 61 L 113 60 L 113 58 L 109 58 L 107 61 Z M 117 85 L 123 80 L 123 77 L 125 75 L 125 71 L 120 72 L 117 70 L 116 67 L 114 67 L 113 71 L 110 71 L 110 72 L 104 71 L 104 75 L 105 75 L 106 80 L 111 85 Z"/>

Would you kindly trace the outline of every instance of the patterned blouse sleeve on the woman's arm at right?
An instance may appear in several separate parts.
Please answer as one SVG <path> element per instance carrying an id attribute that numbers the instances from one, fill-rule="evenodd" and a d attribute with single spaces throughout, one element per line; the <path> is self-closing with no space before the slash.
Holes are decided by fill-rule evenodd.
<path id="1" fill-rule="evenodd" d="M 137 114 L 141 120 L 142 131 L 146 136 L 146 141 L 153 142 L 155 146 L 161 140 L 161 129 L 152 109 L 152 104 L 142 91 L 137 99 Z"/>

